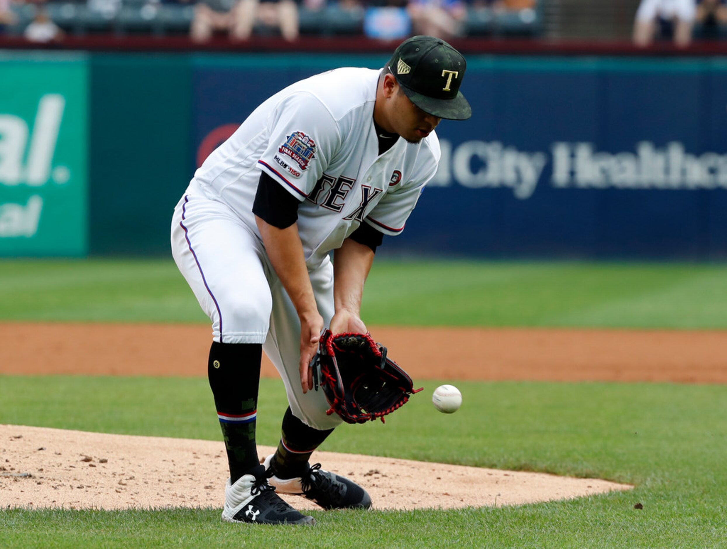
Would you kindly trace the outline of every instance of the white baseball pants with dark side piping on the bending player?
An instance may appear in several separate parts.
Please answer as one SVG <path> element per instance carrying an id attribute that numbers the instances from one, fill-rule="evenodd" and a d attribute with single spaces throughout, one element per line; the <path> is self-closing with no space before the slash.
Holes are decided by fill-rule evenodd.
<path id="1" fill-rule="evenodd" d="M 194 183 L 174 208 L 172 256 L 212 321 L 214 341 L 262 343 L 285 383 L 294 416 L 320 430 L 340 425 L 337 414 L 326 415 L 329 404 L 322 390 L 302 393 L 300 321 L 260 237 Z M 309 275 L 318 312 L 328 326 L 334 314 L 329 258 Z"/>

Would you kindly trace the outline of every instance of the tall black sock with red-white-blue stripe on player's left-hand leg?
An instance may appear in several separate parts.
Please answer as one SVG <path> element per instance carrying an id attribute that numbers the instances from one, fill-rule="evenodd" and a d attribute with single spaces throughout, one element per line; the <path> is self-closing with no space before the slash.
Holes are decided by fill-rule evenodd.
<path id="1" fill-rule="evenodd" d="M 217 343 L 209 349 L 207 377 L 225 439 L 230 481 L 260 465 L 255 445 L 262 345 Z"/>

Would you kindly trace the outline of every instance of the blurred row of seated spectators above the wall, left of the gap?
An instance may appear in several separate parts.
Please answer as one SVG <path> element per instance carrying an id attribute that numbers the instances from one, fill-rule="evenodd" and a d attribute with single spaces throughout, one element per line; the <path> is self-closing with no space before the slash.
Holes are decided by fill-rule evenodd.
<path id="1" fill-rule="evenodd" d="M 254 36 L 430 34 L 537 36 L 547 0 L 0 0 L 0 34 L 37 42 L 68 34 Z"/>

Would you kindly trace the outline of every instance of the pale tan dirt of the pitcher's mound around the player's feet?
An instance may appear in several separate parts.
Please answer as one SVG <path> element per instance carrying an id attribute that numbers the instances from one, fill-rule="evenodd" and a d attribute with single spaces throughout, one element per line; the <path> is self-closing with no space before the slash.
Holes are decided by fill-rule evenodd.
<path id="1" fill-rule="evenodd" d="M 0 508 L 222 508 L 222 442 L 0 425 Z M 259 446 L 261 456 L 273 452 Z M 375 509 L 459 508 L 563 500 L 632 488 L 597 478 L 316 452 L 323 468 L 371 494 Z M 318 509 L 286 497 L 299 509 Z"/>

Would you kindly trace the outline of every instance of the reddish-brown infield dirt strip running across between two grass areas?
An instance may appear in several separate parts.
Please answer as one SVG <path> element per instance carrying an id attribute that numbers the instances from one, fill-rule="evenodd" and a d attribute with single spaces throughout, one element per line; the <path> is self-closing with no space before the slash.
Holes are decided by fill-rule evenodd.
<path id="1" fill-rule="evenodd" d="M 371 334 L 415 380 L 727 382 L 727 331 L 374 326 Z M 199 324 L 0 323 L 0 374 L 206 376 L 211 341 Z M 262 375 L 278 375 L 267 358 Z"/>

